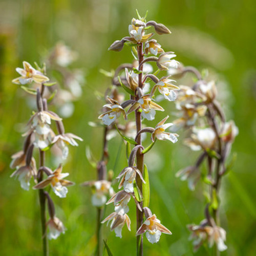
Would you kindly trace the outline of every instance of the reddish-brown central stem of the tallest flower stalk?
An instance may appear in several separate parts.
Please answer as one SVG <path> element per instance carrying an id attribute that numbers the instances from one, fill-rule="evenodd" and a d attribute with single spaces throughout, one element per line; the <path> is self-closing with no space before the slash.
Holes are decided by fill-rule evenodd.
<path id="1" fill-rule="evenodd" d="M 140 43 L 140 45 L 138 46 L 138 57 L 139 57 L 139 70 L 142 71 L 143 70 L 143 65 L 141 65 L 141 62 L 143 61 L 143 45 L 142 43 Z M 139 84 L 138 84 L 139 88 L 143 88 L 143 82 L 142 82 L 142 73 L 139 74 Z M 138 100 L 138 96 L 136 96 L 136 100 Z M 135 117 L 136 117 L 136 130 L 137 130 L 137 134 L 139 133 L 139 131 L 141 130 L 141 113 L 136 111 L 135 112 Z M 139 145 L 141 145 L 141 135 L 138 136 L 137 138 L 137 143 Z M 137 162 L 137 168 L 140 170 L 141 174 L 143 175 L 143 154 L 141 153 L 141 148 L 139 148 L 139 150 L 137 151 L 137 155 L 136 155 L 136 162 Z M 136 182 L 137 185 L 140 189 L 140 191 L 142 192 L 142 181 L 140 179 L 140 177 L 136 177 Z M 142 208 L 142 204 L 141 204 L 141 208 Z M 139 227 L 142 225 L 143 222 L 143 212 L 139 210 L 139 208 L 136 208 L 136 217 L 137 217 L 137 230 L 139 229 Z M 137 236 L 137 255 L 138 256 L 142 256 L 143 255 L 143 236 Z"/>

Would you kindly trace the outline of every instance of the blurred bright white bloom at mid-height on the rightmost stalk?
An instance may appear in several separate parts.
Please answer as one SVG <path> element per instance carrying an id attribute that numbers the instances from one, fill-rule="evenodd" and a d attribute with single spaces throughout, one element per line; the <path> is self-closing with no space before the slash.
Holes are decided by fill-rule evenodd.
<path id="1" fill-rule="evenodd" d="M 215 146 L 215 142 L 216 134 L 211 128 L 195 128 L 190 138 L 184 140 L 185 145 L 189 146 L 193 151 L 212 149 Z"/>

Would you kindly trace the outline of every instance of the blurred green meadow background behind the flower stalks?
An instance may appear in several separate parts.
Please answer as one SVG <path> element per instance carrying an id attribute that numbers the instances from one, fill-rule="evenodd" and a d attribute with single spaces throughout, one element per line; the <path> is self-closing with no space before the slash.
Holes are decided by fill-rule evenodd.
<path id="1" fill-rule="evenodd" d="M 38 195 L 32 189 L 22 190 L 18 181 L 10 178 L 10 156 L 22 149 L 21 130 L 31 114 L 25 94 L 11 80 L 18 76 L 15 68 L 22 67 L 23 60 L 41 63 L 45 53 L 59 40 L 79 53 L 72 67 L 82 68 L 87 81 L 82 97 L 75 102 L 74 115 L 64 120 L 66 131 L 84 141 L 79 147 L 70 148 L 72 157 L 63 168 L 63 172 L 70 172 L 70 180 L 77 185 L 70 187 L 66 199 L 53 195 L 57 216 L 67 231 L 56 241 L 50 241 L 50 254 L 93 254 L 96 210 L 91 205 L 90 189 L 78 184 L 96 177 L 85 157 L 85 147 L 90 145 L 99 158 L 102 130 L 90 127 L 88 122 L 97 120 L 102 105 L 95 91 L 103 93 L 110 83 L 99 69 L 115 69 L 120 63 L 132 60 L 128 47 L 121 53 L 107 49 L 114 40 L 128 35 L 128 25 L 136 16 L 135 9 L 141 15 L 148 10 L 147 20 L 163 23 L 173 32 L 172 35 L 156 36 L 165 51 L 175 51 L 176 59 L 185 65 L 200 70 L 209 68 L 230 91 L 222 103 L 228 119 L 234 119 L 239 127 L 239 136 L 232 149 L 238 157 L 221 189 L 221 222 L 227 231 L 228 246 L 221 254 L 255 255 L 255 1 L 0 0 L 1 255 L 40 255 Z M 174 117 L 171 115 L 169 119 L 174 120 Z M 186 182 L 175 178 L 175 173 L 194 163 L 193 156 L 197 156 L 191 155 L 181 140 L 182 136 L 175 145 L 156 143 L 154 153 L 145 159 L 152 166 L 149 168 L 150 207 L 173 232 L 172 236 L 163 234 L 155 245 L 145 240 L 145 255 L 210 255 L 203 247 L 193 253 L 188 241 L 186 225 L 198 224 L 204 218 L 205 202 L 199 191 L 191 193 Z M 109 168 L 114 169 L 116 176 L 126 165 L 125 148 L 120 138 L 111 140 L 110 155 Z M 157 166 L 150 163 L 152 158 L 156 159 Z M 48 163 L 56 167 L 49 157 Z M 114 189 L 117 190 L 117 184 Z M 104 238 L 108 239 L 115 256 L 135 255 L 135 207 L 130 205 L 132 232 L 124 227 L 120 240 L 109 227 L 103 226 Z M 106 207 L 105 216 L 112 210 L 112 206 Z"/>

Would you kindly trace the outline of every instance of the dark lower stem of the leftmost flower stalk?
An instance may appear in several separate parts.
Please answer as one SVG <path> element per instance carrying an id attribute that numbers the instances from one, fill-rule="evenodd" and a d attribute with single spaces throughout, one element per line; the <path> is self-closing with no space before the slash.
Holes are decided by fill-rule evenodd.
<path id="1" fill-rule="evenodd" d="M 40 167 L 45 165 L 45 152 L 39 149 L 39 156 L 40 156 Z M 40 172 L 40 176 L 37 179 L 38 183 L 42 181 L 43 172 Z M 39 203 L 40 203 L 40 216 L 41 216 L 41 227 L 42 227 L 42 255 L 48 256 L 49 255 L 49 248 L 48 248 L 48 239 L 46 233 L 46 196 L 44 193 L 44 189 L 39 189 Z"/>

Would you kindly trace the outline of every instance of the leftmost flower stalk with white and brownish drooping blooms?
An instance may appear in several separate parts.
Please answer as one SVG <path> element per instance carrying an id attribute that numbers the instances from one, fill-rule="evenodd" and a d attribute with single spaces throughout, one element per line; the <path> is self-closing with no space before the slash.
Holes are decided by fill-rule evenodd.
<path id="1" fill-rule="evenodd" d="M 13 160 L 10 164 L 11 168 L 16 168 L 11 177 L 18 177 L 20 185 L 23 189 L 29 190 L 30 180 L 34 179 L 34 189 L 38 190 L 40 204 L 40 218 L 42 228 L 42 254 L 49 255 L 48 239 L 56 239 L 60 233 L 65 233 L 63 223 L 55 216 L 55 207 L 50 197 L 49 189 L 45 187 L 51 186 L 53 192 L 60 198 L 66 197 L 68 193 L 67 186 L 74 183 L 63 178 L 68 173 L 62 172 L 62 164 L 60 164 L 54 172 L 46 166 L 46 151 L 55 148 L 62 155 L 62 161 L 68 157 L 67 144 L 78 145 L 75 139 L 82 140 L 71 133 L 65 133 L 62 119 L 54 112 L 48 110 L 47 99 L 44 97 L 46 87 L 53 86 L 46 76 L 46 69 L 34 69 L 28 62 L 23 62 L 24 68 L 17 68 L 16 71 L 21 75 L 13 80 L 19 84 L 26 92 L 36 95 L 37 111 L 32 115 L 28 122 L 28 131 L 23 135 L 26 136 L 24 150 L 12 156 Z M 30 86 L 25 86 L 35 82 L 37 90 Z M 56 135 L 52 128 L 52 120 L 56 122 Z M 35 148 L 39 151 L 39 165 L 33 158 Z M 46 179 L 44 179 L 46 176 Z M 49 221 L 47 221 L 47 211 L 49 212 Z M 49 232 L 47 234 L 47 227 Z"/>

